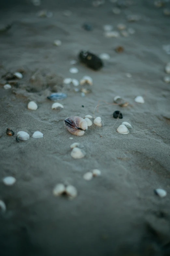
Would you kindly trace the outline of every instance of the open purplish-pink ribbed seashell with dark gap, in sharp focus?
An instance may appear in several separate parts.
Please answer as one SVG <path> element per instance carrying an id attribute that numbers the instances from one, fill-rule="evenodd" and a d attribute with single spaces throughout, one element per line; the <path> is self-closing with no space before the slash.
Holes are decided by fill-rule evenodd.
<path id="1" fill-rule="evenodd" d="M 82 136 L 87 131 L 87 122 L 78 116 L 71 116 L 64 120 L 65 127 L 74 135 Z"/>

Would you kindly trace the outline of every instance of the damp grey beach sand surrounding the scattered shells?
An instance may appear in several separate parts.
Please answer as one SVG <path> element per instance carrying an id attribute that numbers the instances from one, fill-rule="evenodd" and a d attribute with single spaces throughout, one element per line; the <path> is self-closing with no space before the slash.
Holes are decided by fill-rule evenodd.
<path id="1" fill-rule="evenodd" d="M 163 50 L 170 43 L 170 17 L 153 1 L 134 1 L 119 15 L 111 12 L 115 6 L 106 1 L 95 8 L 90 0 L 44 0 L 38 7 L 31 1 L 1 3 L 1 23 L 13 25 L 0 34 L 0 75 L 24 71 L 10 90 L 3 88 L 2 79 L 0 85 L 0 199 L 7 206 L 0 215 L 2 256 L 170 255 L 170 86 L 163 82 L 170 61 Z M 42 9 L 53 16 L 38 17 Z M 64 16 L 65 9 L 72 15 Z M 141 20 L 129 23 L 128 14 L 140 14 Z M 92 31 L 82 28 L 85 22 Z M 135 34 L 106 38 L 103 26 L 118 30 L 119 23 L 134 28 Z M 54 40 L 62 45 L 53 45 Z M 119 45 L 125 49 L 120 54 L 114 50 Z M 100 71 L 79 62 L 71 65 L 84 49 L 111 58 Z M 69 73 L 72 66 L 77 74 Z M 63 85 L 66 77 L 85 75 L 93 79 L 92 93 L 85 97 L 74 86 Z M 56 91 L 68 94 L 60 111 L 52 110 L 47 99 Z M 129 105 L 113 105 L 116 95 Z M 138 95 L 144 104 L 134 101 Z M 38 104 L 36 111 L 27 109 L 30 100 Z M 81 137 L 66 130 L 65 118 L 93 116 L 98 103 L 95 117 L 102 118 L 104 127 L 89 127 Z M 115 110 L 123 114 L 116 124 Z M 122 121 L 133 127 L 127 135 L 116 132 Z M 7 128 L 15 135 L 7 136 Z M 38 130 L 44 137 L 17 143 L 21 130 L 30 136 Z M 70 156 L 74 142 L 84 145 L 84 158 Z M 84 180 L 92 169 L 101 176 Z M 16 183 L 3 184 L 6 176 Z M 57 183 L 75 186 L 78 196 L 53 196 Z M 167 196 L 156 196 L 156 188 Z"/>

